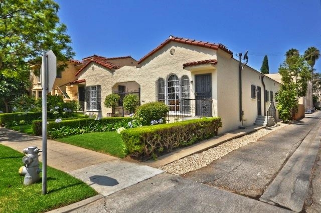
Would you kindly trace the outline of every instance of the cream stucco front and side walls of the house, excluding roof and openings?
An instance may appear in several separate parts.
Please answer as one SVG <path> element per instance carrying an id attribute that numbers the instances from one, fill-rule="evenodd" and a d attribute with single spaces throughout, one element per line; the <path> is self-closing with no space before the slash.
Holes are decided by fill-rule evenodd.
<path id="1" fill-rule="evenodd" d="M 171 54 L 171 49 L 175 50 Z M 183 69 L 183 64 L 188 62 L 217 59 L 215 66 L 206 67 L 206 70 L 188 71 Z M 187 44 L 171 42 L 161 50 L 145 59 L 140 68 L 124 66 L 111 71 L 105 67 L 91 63 L 87 66 L 78 79 L 86 79 L 86 86 L 101 85 L 101 106 L 99 116 L 106 116 L 111 109 L 104 107 L 103 102 L 106 95 L 118 90 L 118 85 L 126 86 L 126 90 L 140 88 L 140 101 L 147 103 L 155 101 L 155 82 L 158 78 L 166 81 L 170 74 L 176 74 L 179 78 L 183 75 L 189 77 L 190 96 L 195 98 L 195 75 L 211 74 L 212 98 L 214 103 L 213 116 L 222 117 L 223 127 L 219 132 L 237 129 L 242 122 L 239 121 L 239 63 L 231 58 L 230 54 L 222 50 L 212 50 L 195 47 Z M 242 109 L 244 111 L 244 125 L 253 125 L 257 117 L 257 99 L 251 99 L 251 85 L 261 87 L 262 114 L 264 115 L 264 90 L 261 82 L 263 74 L 247 66 L 242 70 Z M 267 77 L 264 83 L 268 91 L 278 91 L 279 84 Z M 266 104 L 266 109 L 268 104 Z"/>

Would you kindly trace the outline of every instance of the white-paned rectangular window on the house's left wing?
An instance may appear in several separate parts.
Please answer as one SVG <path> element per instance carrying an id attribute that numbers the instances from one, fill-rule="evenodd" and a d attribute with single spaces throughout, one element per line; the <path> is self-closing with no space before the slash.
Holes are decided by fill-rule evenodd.
<path id="1" fill-rule="evenodd" d="M 86 87 L 86 109 L 101 110 L 101 88 L 100 85 Z"/>

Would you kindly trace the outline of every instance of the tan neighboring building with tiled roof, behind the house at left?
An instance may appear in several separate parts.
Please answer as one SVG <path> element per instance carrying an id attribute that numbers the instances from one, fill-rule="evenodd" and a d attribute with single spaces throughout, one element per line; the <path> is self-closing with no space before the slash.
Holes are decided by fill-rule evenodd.
<path id="1" fill-rule="evenodd" d="M 78 88 L 78 84 L 83 83 L 82 81 L 77 81 L 77 74 L 79 70 L 87 66 L 92 61 L 102 64 L 112 64 L 118 68 L 123 66 L 136 66 L 137 61 L 130 56 L 116 57 L 116 58 L 106 58 L 102 56 L 93 55 L 90 57 L 83 58 L 82 61 L 70 59 L 67 61 L 67 68 L 61 72 L 57 72 L 57 77 L 54 82 L 54 86 L 50 91 L 51 95 L 63 95 L 64 101 L 76 100 L 79 101 L 80 110 L 84 110 L 84 89 Z M 36 69 L 39 67 L 34 66 Z M 40 76 L 38 72 L 35 74 L 34 70 L 31 71 L 30 79 L 32 82 L 31 95 L 36 99 L 41 97 L 42 88 L 40 82 Z M 80 92 L 80 94 L 79 94 Z"/>

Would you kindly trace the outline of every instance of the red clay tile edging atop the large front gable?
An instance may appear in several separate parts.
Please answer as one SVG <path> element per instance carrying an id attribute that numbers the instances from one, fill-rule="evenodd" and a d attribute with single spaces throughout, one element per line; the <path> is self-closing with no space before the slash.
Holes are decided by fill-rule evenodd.
<path id="1" fill-rule="evenodd" d="M 152 54 L 154 54 L 155 52 L 157 52 L 159 49 L 163 48 L 165 45 L 167 45 L 170 42 L 178 42 L 178 43 L 182 43 L 182 44 L 189 44 L 189 45 L 195 45 L 195 46 L 199 46 L 199 47 L 205 47 L 205 48 L 210 48 L 213 50 L 218 50 L 221 49 L 225 52 L 227 52 L 228 54 L 231 55 L 231 57 L 233 57 L 233 52 L 228 50 L 224 45 L 222 44 L 214 44 L 214 43 L 209 43 L 209 42 L 202 42 L 202 41 L 196 41 L 196 40 L 191 40 L 191 39 L 184 39 L 184 38 L 179 38 L 179 37 L 174 37 L 174 36 L 170 36 L 169 39 L 167 39 L 165 42 L 163 42 L 161 45 L 159 45 L 158 47 L 156 47 L 155 49 L 153 49 L 152 51 L 150 51 L 147 55 L 145 55 L 144 57 L 142 57 L 139 61 L 138 64 L 140 64 L 141 62 L 143 62 L 145 59 L 147 59 L 149 56 L 151 56 Z"/>

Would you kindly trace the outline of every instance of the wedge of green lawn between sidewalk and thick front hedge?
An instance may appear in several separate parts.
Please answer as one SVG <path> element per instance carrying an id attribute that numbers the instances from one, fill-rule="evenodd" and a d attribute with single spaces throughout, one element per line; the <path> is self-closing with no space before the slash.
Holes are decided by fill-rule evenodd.
<path id="1" fill-rule="evenodd" d="M 57 141 L 124 158 L 125 144 L 117 132 L 92 132 L 57 138 Z"/>

